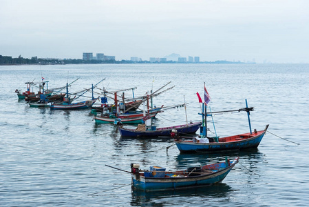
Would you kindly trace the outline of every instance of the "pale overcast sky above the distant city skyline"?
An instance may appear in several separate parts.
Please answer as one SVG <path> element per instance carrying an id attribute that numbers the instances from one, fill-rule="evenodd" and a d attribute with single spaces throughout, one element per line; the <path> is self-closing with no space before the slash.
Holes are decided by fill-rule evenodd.
<path id="1" fill-rule="evenodd" d="M 0 55 L 309 63 L 308 0 L 0 0 Z"/>

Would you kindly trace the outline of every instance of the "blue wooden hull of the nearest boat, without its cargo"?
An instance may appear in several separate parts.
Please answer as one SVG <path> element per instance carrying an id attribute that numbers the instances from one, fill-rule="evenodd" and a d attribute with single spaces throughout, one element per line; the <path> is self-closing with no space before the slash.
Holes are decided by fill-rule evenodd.
<path id="1" fill-rule="evenodd" d="M 217 163 L 211 166 L 215 167 L 214 172 L 210 174 L 202 174 L 198 176 L 186 177 L 145 177 L 131 174 L 131 184 L 134 190 L 157 191 L 157 190 L 176 190 L 183 188 L 196 188 L 198 186 L 209 186 L 220 183 L 228 172 L 237 164 L 238 159 L 235 159 L 233 164 L 226 167 L 226 163 Z M 204 168 L 204 167 L 203 167 Z"/>

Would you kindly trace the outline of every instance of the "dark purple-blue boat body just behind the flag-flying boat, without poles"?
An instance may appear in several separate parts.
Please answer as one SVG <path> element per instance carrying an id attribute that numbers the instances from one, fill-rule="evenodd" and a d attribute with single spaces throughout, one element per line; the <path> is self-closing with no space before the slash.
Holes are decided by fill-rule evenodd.
<path id="1" fill-rule="evenodd" d="M 119 132 L 121 137 L 171 137 L 171 130 L 177 130 L 180 134 L 192 134 L 195 133 L 201 125 L 202 122 L 195 122 L 162 128 L 151 126 L 149 129 L 147 129 L 146 125 L 139 125 L 136 129 L 120 127 Z"/>

